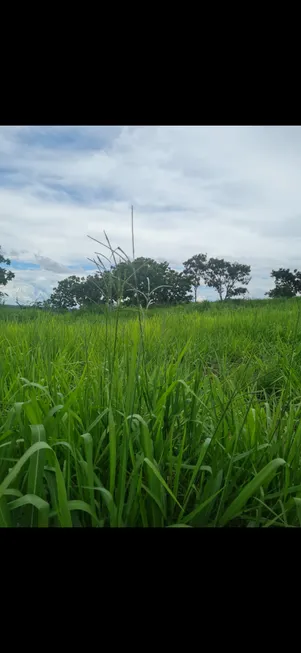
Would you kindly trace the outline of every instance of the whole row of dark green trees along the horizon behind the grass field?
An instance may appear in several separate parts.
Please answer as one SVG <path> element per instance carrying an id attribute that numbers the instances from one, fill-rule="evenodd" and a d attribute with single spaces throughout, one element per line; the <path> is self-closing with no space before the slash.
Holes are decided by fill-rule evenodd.
<path id="1" fill-rule="evenodd" d="M 195 254 L 183 263 L 183 270 L 172 269 L 167 261 L 158 263 L 152 258 L 139 257 L 134 261 L 115 260 L 105 268 L 97 261 L 96 272 L 87 277 L 71 275 L 53 288 L 49 299 L 38 302 L 42 308 L 71 309 L 99 304 L 125 306 L 176 305 L 197 301 L 199 286 L 213 288 L 220 301 L 244 297 L 248 293 L 251 266 L 231 263 L 222 258 L 209 258 L 207 254 Z M 10 260 L 1 254 L 0 286 L 6 286 L 14 273 L 4 265 Z M 301 294 L 301 272 L 280 268 L 272 270 L 275 287 L 265 293 L 270 298 L 295 297 Z M 7 293 L 0 291 L 0 301 Z"/>

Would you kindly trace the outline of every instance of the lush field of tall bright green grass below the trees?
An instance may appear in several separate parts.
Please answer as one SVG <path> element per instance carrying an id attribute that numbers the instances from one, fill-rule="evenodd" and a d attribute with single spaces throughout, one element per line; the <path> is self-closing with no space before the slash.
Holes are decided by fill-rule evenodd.
<path id="1" fill-rule="evenodd" d="M 300 526 L 300 308 L 0 307 L 0 525 Z"/>

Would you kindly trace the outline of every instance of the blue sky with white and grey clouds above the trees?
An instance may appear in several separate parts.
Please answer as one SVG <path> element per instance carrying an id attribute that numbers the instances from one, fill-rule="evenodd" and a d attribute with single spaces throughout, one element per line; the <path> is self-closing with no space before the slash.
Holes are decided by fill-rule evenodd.
<path id="1" fill-rule="evenodd" d="M 272 268 L 301 267 L 301 127 L 0 127 L 8 303 L 89 272 L 87 234 L 130 254 L 131 204 L 137 256 L 239 260 L 263 297 Z"/>

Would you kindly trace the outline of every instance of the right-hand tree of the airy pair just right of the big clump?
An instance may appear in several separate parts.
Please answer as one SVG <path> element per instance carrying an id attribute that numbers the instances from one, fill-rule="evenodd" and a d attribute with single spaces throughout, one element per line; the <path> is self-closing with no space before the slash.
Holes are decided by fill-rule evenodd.
<path id="1" fill-rule="evenodd" d="M 223 258 L 210 258 L 202 273 L 205 284 L 214 288 L 221 301 L 245 295 L 245 286 L 251 281 L 251 267 L 242 263 L 230 263 Z M 237 284 L 243 284 L 237 286 Z"/>

